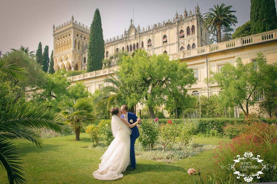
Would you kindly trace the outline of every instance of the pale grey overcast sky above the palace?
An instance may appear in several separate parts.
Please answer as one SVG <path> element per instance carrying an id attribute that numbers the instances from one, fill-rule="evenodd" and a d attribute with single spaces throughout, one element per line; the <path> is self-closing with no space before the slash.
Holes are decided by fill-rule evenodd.
<path id="1" fill-rule="evenodd" d="M 276 2 L 277 0 L 275 0 Z M 41 41 L 42 49 L 49 46 L 49 55 L 53 49 L 53 24 L 59 25 L 74 19 L 90 26 L 96 8 L 102 19 L 104 40 L 121 35 L 129 27 L 130 19 L 142 28 L 168 20 L 184 9 L 189 11 L 199 5 L 205 13 L 213 5 L 225 3 L 232 5 L 238 19 L 237 26 L 250 20 L 250 0 L 1 0 L 0 3 L 0 51 L 5 53 L 20 45 L 29 46 L 36 51 Z"/>

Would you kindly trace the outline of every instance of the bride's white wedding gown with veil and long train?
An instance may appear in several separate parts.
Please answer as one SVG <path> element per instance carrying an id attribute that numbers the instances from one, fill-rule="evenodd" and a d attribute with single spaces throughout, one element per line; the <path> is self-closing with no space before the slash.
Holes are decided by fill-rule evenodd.
<path id="1" fill-rule="evenodd" d="M 117 115 L 112 116 L 111 128 L 113 141 L 101 156 L 99 169 L 93 172 L 93 177 L 99 180 L 116 180 L 123 177 L 130 164 L 130 135 L 132 130 L 121 121 Z"/>

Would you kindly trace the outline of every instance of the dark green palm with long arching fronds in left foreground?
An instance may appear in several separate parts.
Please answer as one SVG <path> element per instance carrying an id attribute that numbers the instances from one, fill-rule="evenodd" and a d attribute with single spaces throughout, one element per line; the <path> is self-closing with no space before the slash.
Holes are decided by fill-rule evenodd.
<path id="1" fill-rule="evenodd" d="M 8 175 L 10 184 L 25 183 L 20 170 L 20 157 L 16 156 L 17 148 L 13 140 L 26 139 L 38 147 L 42 147 L 42 139 L 35 130 L 47 128 L 62 135 L 66 134 L 66 124 L 57 113 L 41 107 L 25 106 L 18 104 L 7 105 L 4 111 L 0 111 L 0 165 L 3 166 Z"/>

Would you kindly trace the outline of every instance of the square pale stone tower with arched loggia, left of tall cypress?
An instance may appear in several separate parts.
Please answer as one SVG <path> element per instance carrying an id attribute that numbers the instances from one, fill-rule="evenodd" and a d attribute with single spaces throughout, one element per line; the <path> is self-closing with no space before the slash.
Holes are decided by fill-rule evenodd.
<path id="1" fill-rule="evenodd" d="M 72 15 L 71 20 L 53 25 L 54 70 L 85 70 L 87 66 L 87 45 L 90 30 Z"/>

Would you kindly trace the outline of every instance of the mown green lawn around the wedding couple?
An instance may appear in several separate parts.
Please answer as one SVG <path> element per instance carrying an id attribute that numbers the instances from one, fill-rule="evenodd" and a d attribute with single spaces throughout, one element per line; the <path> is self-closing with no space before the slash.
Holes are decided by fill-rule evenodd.
<path id="1" fill-rule="evenodd" d="M 36 183 L 193 183 L 186 172 L 190 168 L 188 159 L 170 164 L 159 161 L 137 159 L 136 169 L 123 173 L 123 178 L 115 181 L 99 181 L 92 172 L 98 169 L 99 158 L 104 152 L 88 149 L 89 136 L 81 133 L 81 141 L 74 141 L 75 136 L 44 139 L 44 146 L 39 149 L 28 141 L 18 141 L 24 178 L 28 184 Z M 196 137 L 193 142 L 217 144 L 229 139 Z M 190 158 L 190 162 L 199 165 L 201 173 L 212 172 L 213 162 L 209 160 L 213 150 L 205 151 Z M 0 168 L 0 183 L 8 184 L 5 169 Z"/>

